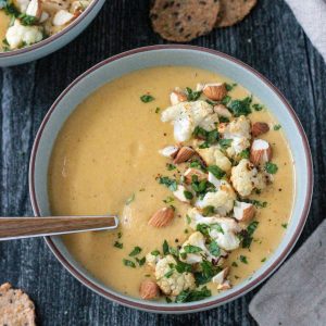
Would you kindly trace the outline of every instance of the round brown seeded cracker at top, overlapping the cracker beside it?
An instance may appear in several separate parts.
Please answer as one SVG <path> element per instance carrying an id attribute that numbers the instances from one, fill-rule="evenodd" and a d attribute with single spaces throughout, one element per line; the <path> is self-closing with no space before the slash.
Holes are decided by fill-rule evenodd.
<path id="1" fill-rule="evenodd" d="M 218 12 L 220 0 L 155 0 L 150 18 L 164 39 L 187 42 L 210 33 Z"/>

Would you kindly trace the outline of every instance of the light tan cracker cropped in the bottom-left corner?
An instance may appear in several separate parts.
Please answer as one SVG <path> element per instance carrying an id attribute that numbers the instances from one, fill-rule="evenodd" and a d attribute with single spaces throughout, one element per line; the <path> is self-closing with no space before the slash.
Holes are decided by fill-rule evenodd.
<path id="1" fill-rule="evenodd" d="M 14 290 L 9 283 L 0 286 L 0 325 L 34 326 L 35 306 L 22 290 Z"/>

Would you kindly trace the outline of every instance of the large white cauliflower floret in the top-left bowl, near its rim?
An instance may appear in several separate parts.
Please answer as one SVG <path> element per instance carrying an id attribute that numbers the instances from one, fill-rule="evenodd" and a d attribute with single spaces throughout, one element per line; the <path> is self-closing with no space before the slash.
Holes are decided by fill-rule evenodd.
<path id="1" fill-rule="evenodd" d="M 43 35 L 39 26 L 24 26 L 20 20 L 15 20 L 5 33 L 5 39 L 10 48 L 18 49 L 23 43 L 30 46 L 42 40 Z"/>

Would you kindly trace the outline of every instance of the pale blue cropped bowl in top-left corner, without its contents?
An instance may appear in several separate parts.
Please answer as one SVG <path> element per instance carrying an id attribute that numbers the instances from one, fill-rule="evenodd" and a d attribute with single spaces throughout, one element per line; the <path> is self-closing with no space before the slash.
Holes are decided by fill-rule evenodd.
<path id="1" fill-rule="evenodd" d="M 0 66 L 18 65 L 34 61 L 64 47 L 90 24 L 104 2 L 105 0 L 92 0 L 85 12 L 66 28 L 40 42 L 15 51 L 0 52 Z"/>

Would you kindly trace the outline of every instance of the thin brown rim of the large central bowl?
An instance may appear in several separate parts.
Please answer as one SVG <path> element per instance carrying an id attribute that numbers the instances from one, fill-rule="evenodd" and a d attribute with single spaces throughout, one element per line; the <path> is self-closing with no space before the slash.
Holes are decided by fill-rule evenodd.
<path id="1" fill-rule="evenodd" d="M 79 273 L 79 271 L 77 271 L 77 268 L 75 268 L 75 266 L 63 256 L 61 251 L 54 244 L 51 237 L 45 237 L 45 240 L 46 240 L 47 244 L 49 246 L 49 248 L 51 249 L 51 251 L 53 252 L 53 254 L 57 256 L 57 259 L 75 278 L 77 278 L 82 284 L 87 286 L 89 289 L 93 290 L 95 292 L 97 292 L 98 294 L 100 294 L 106 299 L 113 300 L 120 304 L 123 304 L 123 305 L 126 305 L 129 308 L 135 308 L 135 309 L 140 309 L 143 311 L 150 311 L 150 312 L 156 312 L 156 313 L 196 312 L 196 311 L 200 311 L 200 310 L 212 309 L 222 303 L 226 303 L 230 300 L 239 298 L 240 296 L 247 293 L 249 290 L 252 290 L 253 288 L 255 288 L 260 283 L 265 280 L 268 276 L 271 276 L 277 269 L 277 267 L 279 267 L 279 265 L 284 262 L 284 260 L 287 258 L 287 255 L 292 250 L 293 246 L 296 244 L 297 240 L 299 239 L 299 237 L 302 233 L 302 229 L 304 227 L 304 224 L 305 224 L 308 215 L 309 215 L 309 210 L 310 210 L 312 195 L 313 195 L 313 164 L 312 164 L 312 155 L 311 155 L 306 135 L 304 133 L 304 129 L 303 129 L 294 110 L 289 104 L 289 102 L 286 100 L 286 98 L 283 96 L 283 93 L 268 79 L 266 79 L 263 75 L 261 75 L 258 71 L 255 71 L 248 64 L 243 63 L 242 61 L 235 59 L 228 54 L 225 54 L 223 52 L 212 50 L 212 49 L 206 49 L 203 47 L 196 47 L 196 46 L 188 46 L 188 45 L 156 45 L 156 46 L 141 47 L 141 48 L 126 51 L 126 52 L 122 52 L 120 54 L 113 55 L 111 58 L 108 58 L 108 59 L 99 62 L 98 64 L 93 65 L 92 67 L 87 70 L 85 73 L 79 75 L 74 82 L 72 82 L 63 90 L 63 92 L 58 97 L 58 99 L 54 101 L 54 103 L 51 105 L 50 110 L 46 114 L 46 116 L 38 129 L 38 133 L 35 138 L 35 142 L 34 142 L 34 146 L 32 149 L 30 162 L 29 162 L 29 196 L 30 196 L 30 202 L 32 202 L 32 206 L 33 206 L 35 216 L 40 216 L 40 210 L 39 210 L 38 202 L 36 199 L 36 190 L 35 190 L 35 184 L 34 184 L 36 155 L 37 155 L 38 146 L 39 146 L 39 141 L 42 136 L 43 129 L 45 129 L 48 121 L 50 120 L 52 112 L 55 110 L 58 103 L 62 100 L 62 98 L 64 98 L 65 95 L 70 91 L 70 89 L 73 88 L 76 84 L 78 84 L 79 80 L 82 80 L 84 77 L 86 77 L 90 73 L 95 72 L 96 70 L 102 67 L 103 65 L 105 65 L 110 62 L 116 61 L 118 59 L 136 54 L 136 53 L 155 51 L 155 50 L 195 50 L 198 52 L 205 52 L 205 53 L 210 53 L 210 54 L 229 60 L 229 61 L 240 65 L 242 68 L 249 71 L 250 73 L 254 74 L 255 77 L 261 79 L 261 82 L 263 82 L 266 87 L 272 89 L 276 93 L 276 96 L 279 98 L 279 100 L 283 102 L 283 104 L 288 110 L 289 114 L 291 115 L 293 122 L 296 123 L 299 135 L 301 136 L 303 147 L 304 147 L 304 158 L 305 158 L 306 170 L 308 170 L 308 185 L 306 185 L 304 206 L 301 212 L 300 220 L 298 222 L 298 225 L 296 227 L 296 230 L 294 230 L 292 237 L 289 239 L 288 243 L 285 246 L 281 253 L 276 258 L 274 263 L 264 273 L 262 273 L 259 277 L 252 278 L 252 280 L 250 280 L 246 286 L 241 287 L 237 291 L 235 291 L 228 296 L 225 296 L 224 298 L 217 297 L 217 298 L 215 298 L 215 300 L 211 300 L 209 302 L 198 301 L 198 303 L 195 303 L 195 304 L 192 303 L 192 305 L 184 304 L 184 305 L 177 305 L 177 306 L 176 305 L 174 305 L 174 306 L 156 305 L 155 306 L 152 304 L 147 304 L 146 301 L 135 302 L 135 301 L 122 298 L 117 294 L 111 293 L 111 292 L 106 291 L 105 289 L 103 289 L 102 287 L 95 284 L 92 280 L 87 279 L 82 273 Z"/>

